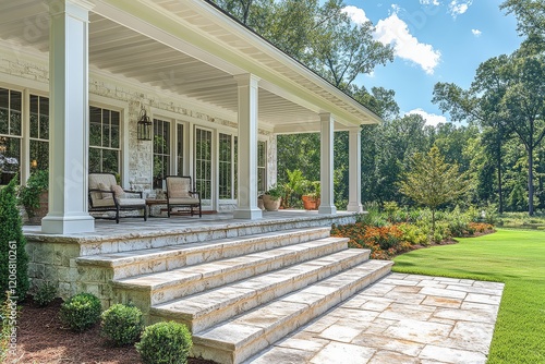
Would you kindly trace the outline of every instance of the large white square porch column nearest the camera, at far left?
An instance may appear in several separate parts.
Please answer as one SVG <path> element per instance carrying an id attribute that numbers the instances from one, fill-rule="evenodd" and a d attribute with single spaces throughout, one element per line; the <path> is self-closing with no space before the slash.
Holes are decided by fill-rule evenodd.
<path id="1" fill-rule="evenodd" d="M 48 233 L 89 232 L 88 12 L 86 0 L 50 2 L 49 34 L 49 214 Z"/>

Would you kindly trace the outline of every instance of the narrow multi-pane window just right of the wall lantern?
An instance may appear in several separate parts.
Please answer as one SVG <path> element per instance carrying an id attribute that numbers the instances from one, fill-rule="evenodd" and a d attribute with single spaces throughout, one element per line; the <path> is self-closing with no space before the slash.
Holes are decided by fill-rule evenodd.
<path id="1" fill-rule="evenodd" d="M 170 122 L 154 119 L 154 189 L 170 174 Z"/>

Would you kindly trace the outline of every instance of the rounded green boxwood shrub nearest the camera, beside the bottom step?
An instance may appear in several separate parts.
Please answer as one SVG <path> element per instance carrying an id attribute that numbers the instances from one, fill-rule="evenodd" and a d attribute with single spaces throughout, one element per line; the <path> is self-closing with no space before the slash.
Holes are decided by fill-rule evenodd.
<path id="1" fill-rule="evenodd" d="M 187 327 L 169 321 L 146 327 L 136 350 L 144 364 L 186 363 L 192 345 Z"/>

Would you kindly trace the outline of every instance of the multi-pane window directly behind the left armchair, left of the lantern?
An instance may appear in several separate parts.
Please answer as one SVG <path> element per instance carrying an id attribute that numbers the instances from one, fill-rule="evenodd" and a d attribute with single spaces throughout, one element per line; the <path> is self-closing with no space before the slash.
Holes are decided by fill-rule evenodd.
<path id="1" fill-rule="evenodd" d="M 120 113 L 89 107 L 89 172 L 120 173 Z"/>

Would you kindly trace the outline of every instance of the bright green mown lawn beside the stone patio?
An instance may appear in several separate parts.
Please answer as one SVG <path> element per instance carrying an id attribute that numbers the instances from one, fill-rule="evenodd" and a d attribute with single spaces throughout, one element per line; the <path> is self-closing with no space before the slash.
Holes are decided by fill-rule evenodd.
<path id="1" fill-rule="evenodd" d="M 458 240 L 400 255 L 392 270 L 504 282 L 488 364 L 545 363 L 545 231 Z"/>

